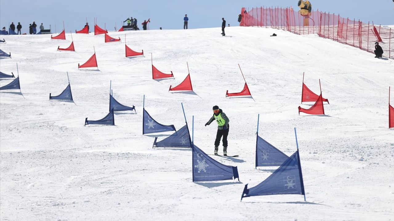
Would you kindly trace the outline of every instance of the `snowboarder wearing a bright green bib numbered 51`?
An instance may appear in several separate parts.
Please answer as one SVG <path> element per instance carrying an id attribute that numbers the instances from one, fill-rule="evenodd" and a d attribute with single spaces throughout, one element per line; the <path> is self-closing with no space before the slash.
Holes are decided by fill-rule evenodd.
<path id="1" fill-rule="evenodd" d="M 210 123 L 216 120 L 217 123 L 217 133 L 216 133 L 216 140 L 215 140 L 215 152 L 214 154 L 217 155 L 217 151 L 219 149 L 220 138 L 223 136 L 223 155 L 227 156 L 227 136 L 229 135 L 229 118 L 226 116 L 225 113 L 217 105 L 215 105 L 212 110 L 214 114 L 212 115 L 211 119 L 206 122 L 206 125 L 210 125 Z"/>

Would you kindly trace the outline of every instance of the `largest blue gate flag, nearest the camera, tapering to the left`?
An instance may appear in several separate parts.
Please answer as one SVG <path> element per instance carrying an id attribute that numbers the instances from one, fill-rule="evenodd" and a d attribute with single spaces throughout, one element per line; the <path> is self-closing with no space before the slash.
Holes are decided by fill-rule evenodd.
<path id="1" fill-rule="evenodd" d="M 298 151 L 257 186 L 248 189 L 246 184 L 241 200 L 243 197 L 277 194 L 305 195 Z"/>

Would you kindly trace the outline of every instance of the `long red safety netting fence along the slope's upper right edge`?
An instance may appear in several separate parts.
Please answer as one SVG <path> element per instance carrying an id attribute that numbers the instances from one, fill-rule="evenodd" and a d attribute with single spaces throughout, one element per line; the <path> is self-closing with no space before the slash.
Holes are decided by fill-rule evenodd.
<path id="1" fill-rule="evenodd" d="M 383 56 L 394 59 L 394 31 L 385 26 L 343 18 L 335 13 L 312 11 L 303 17 L 291 7 L 256 7 L 241 9 L 240 26 L 282 29 L 295 34 L 318 34 L 342 44 L 374 53 L 375 42 L 383 49 Z"/>

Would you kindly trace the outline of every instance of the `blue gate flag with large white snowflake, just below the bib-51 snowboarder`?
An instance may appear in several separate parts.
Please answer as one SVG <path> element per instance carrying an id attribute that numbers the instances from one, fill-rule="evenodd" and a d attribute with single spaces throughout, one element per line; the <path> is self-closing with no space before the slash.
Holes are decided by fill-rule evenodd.
<path id="1" fill-rule="evenodd" d="M 193 145 L 193 182 L 232 180 L 238 178 L 238 168 L 227 166 L 208 157 L 200 148 Z"/>

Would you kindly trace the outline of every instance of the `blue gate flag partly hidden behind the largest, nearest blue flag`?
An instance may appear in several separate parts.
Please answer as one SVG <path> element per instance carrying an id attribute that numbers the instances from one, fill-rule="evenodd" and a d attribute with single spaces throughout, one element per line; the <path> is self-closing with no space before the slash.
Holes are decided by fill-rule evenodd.
<path id="1" fill-rule="evenodd" d="M 256 167 L 281 166 L 289 157 L 257 135 Z"/>

